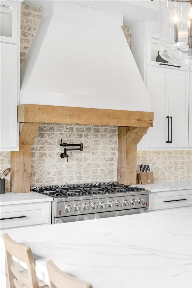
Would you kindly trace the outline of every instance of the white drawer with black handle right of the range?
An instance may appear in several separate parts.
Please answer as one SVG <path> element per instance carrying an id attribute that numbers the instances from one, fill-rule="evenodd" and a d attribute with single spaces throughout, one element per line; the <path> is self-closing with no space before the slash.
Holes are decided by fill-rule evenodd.
<path id="1" fill-rule="evenodd" d="M 192 205 L 192 190 L 152 192 L 149 194 L 149 211 Z"/>

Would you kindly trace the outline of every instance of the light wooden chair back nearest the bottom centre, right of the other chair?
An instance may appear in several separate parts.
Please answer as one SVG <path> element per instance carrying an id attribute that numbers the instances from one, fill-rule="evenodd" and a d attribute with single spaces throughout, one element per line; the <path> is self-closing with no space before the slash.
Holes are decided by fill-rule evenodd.
<path id="1" fill-rule="evenodd" d="M 50 288 L 92 288 L 90 283 L 72 277 L 61 271 L 53 262 L 46 262 Z"/>

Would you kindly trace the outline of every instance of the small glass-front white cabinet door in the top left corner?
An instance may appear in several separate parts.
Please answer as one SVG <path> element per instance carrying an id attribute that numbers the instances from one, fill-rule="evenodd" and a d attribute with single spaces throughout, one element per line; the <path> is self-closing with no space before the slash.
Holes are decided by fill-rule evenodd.
<path id="1" fill-rule="evenodd" d="M 18 3 L 0 1 L 0 41 L 18 43 Z"/>

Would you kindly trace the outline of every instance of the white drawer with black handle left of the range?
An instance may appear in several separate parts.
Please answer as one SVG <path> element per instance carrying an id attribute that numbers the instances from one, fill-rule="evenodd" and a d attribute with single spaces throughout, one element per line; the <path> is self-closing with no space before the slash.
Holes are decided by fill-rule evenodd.
<path id="1" fill-rule="evenodd" d="M 1 229 L 51 224 L 51 202 L 2 205 L 0 219 Z"/>

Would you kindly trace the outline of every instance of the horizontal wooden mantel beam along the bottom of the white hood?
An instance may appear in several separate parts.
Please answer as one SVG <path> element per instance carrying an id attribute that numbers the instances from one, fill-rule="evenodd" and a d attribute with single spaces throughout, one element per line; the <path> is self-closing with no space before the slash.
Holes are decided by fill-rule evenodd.
<path id="1" fill-rule="evenodd" d="M 18 105 L 17 121 L 152 127 L 153 112 L 22 104 Z"/>

